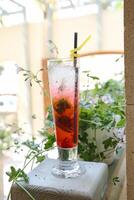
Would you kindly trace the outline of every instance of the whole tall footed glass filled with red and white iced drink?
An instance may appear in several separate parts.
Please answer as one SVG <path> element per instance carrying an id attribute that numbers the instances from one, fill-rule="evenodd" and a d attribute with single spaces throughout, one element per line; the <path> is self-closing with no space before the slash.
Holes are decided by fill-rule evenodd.
<path id="1" fill-rule="evenodd" d="M 58 164 L 52 169 L 57 176 L 69 178 L 82 173 L 77 162 L 79 76 L 78 62 L 70 59 L 50 60 L 49 87 L 58 147 Z"/>

